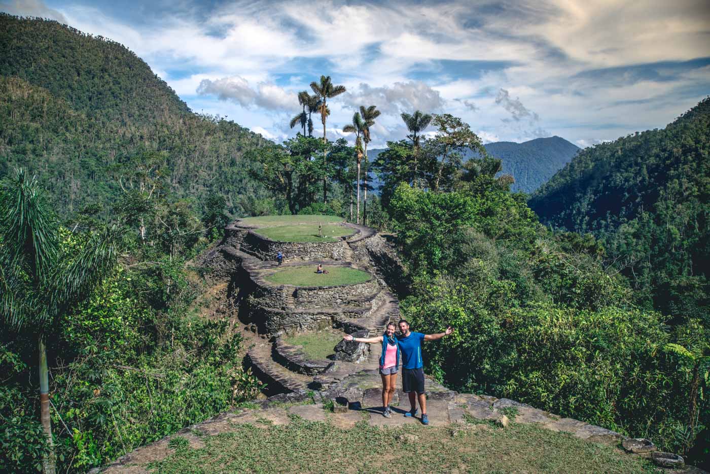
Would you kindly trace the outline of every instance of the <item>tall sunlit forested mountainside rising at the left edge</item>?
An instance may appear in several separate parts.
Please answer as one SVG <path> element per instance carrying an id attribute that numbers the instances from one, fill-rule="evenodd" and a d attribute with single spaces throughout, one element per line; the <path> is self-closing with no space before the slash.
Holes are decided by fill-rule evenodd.
<path id="1" fill-rule="evenodd" d="M 123 45 L 56 21 L 0 14 L 0 178 L 28 168 L 61 215 L 121 194 L 117 170 L 140 153 L 160 152 L 168 193 L 204 199 L 256 184 L 244 154 L 266 139 L 185 102 Z M 160 161 L 160 160 L 158 160 Z"/>

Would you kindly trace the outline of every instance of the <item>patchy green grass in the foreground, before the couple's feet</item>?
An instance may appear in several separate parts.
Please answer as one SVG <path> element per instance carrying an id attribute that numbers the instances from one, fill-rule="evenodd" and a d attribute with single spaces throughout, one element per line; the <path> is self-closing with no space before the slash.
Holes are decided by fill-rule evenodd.
<path id="1" fill-rule="evenodd" d="M 332 416 L 332 415 L 329 415 Z M 532 425 L 476 429 L 398 428 L 359 422 L 351 429 L 295 417 L 290 424 L 244 424 L 204 437 L 148 466 L 153 473 L 649 473 L 648 461 Z M 398 440 L 402 433 L 418 436 Z"/>

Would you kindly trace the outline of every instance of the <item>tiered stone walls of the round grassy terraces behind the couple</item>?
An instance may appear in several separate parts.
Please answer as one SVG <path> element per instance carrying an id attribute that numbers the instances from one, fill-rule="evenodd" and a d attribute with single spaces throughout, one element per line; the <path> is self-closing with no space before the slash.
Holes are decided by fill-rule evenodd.
<path id="1" fill-rule="evenodd" d="M 229 279 L 239 317 L 251 323 L 261 338 L 247 354 L 253 372 L 268 384 L 268 393 L 324 389 L 364 368 L 376 367 L 378 345 L 363 345 L 361 362 L 309 360 L 298 347 L 285 344 L 282 335 L 315 332 L 324 328 L 343 334 L 367 330 L 383 333 L 399 318 L 399 303 L 388 281 L 401 276 L 401 266 L 386 240 L 369 227 L 343 223 L 351 229 L 337 242 L 276 242 L 255 230 L 256 225 L 236 221 L 226 227 L 222 244 L 202 259 L 212 278 Z M 284 263 L 275 262 L 283 252 Z M 266 279 L 289 266 L 323 264 L 347 266 L 371 275 L 368 281 L 333 286 L 274 284 Z M 395 281 L 396 283 L 396 281 Z"/>

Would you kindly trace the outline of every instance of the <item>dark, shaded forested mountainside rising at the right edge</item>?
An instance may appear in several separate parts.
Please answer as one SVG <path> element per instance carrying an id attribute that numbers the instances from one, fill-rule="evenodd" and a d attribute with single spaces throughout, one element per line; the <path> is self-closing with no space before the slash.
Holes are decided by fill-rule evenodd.
<path id="1" fill-rule="evenodd" d="M 647 303 L 706 318 L 709 132 L 706 98 L 665 129 L 580 151 L 532 195 L 530 208 L 547 225 L 601 239 Z"/>

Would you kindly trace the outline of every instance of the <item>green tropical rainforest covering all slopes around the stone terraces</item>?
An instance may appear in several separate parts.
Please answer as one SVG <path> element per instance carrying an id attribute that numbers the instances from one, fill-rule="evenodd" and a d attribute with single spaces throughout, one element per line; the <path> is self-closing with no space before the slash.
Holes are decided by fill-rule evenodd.
<path id="1" fill-rule="evenodd" d="M 449 387 L 710 457 L 708 99 L 530 198 L 451 114 L 403 113 L 371 158 L 378 104 L 329 141 L 345 87 L 314 77 L 274 144 L 118 43 L 0 22 L 0 470 L 84 472 L 256 397 L 194 257 L 235 217 L 298 213 L 393 232 L 403 316 L 455 328 L 425 345 Z"/>

